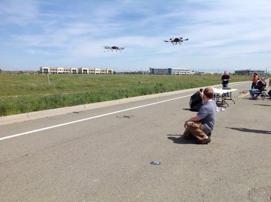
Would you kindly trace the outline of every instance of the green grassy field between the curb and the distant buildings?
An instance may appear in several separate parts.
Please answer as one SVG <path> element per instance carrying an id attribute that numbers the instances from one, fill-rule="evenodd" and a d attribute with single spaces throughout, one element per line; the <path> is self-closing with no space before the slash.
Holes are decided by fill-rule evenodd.
<path id="1" fill-rule="evenodd" d="M 220 84 L 221 75 L 0 74 L 0 116 Z M 231 75 L 231 82 L 251 80 Z"/>

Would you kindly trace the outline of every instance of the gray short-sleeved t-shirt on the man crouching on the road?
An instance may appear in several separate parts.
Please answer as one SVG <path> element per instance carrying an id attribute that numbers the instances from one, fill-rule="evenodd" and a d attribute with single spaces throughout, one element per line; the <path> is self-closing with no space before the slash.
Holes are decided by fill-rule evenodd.
<path id="1" fill-rule="evenodd" d="M 216 109 L 216 103 L 214 102 L 214 100 L 212 100 L 210 102 L 204 103 L 197 114 L 198 117 L 202 118 L 200 122 L 202 122 L 204 125 L 205 133 L 209 133 L 211 132 L 211 130 L 214 129 L 215 109 Z"/>

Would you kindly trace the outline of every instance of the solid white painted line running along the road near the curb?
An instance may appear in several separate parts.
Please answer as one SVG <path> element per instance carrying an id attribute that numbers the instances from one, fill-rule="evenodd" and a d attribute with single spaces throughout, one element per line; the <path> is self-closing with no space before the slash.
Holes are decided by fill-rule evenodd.
<path id="1" fill-rule="evenodd" d="M 43 130 L 48 130 L 48 129 L 51 129 L 51 128 L 56 128 L 56 127 L 60 127 L 60 126 L 65 126 L 65 125 L 68 125 L 68 124 L 78 123 L 78 122 L 81 122 L 81 121 L 87 121 L 87 120 L 90 120 L 90 119 L 95 119 L 95 118 L 99 118 L 99 117 L 104 117 L 104 116 L 107 116 L 107 115 L 116 114 L 116 113 L 120 113 L 120 112 L 125 112 L 125 111 L 129 111 L 129 110 L 134 110 L 134 109 L 138 109 L 138 108 L 143 108 L 143 107 L 147 107 L 147 106 L 151 106 L 151 105 L 157 105 L 157 104 L 160 104 L 160 103 L 169 102 L 169 101 L 171 101 L 171 100 L 180 99 L 180 98 L 188 97 L 188 96 L 191 96 L 191 95 L 192 95 L 192 94 L 185 95 L 185 96 L 181 96 L 181 97 L 176 97 L 176 98 L 172 98 L 172 99 L 163 100 L 163 101 L 157 102 L 157 103 L 151 103 L 151 104 L 142 105 L 142 106 L 138 106 L 138 107 L 133 107 L 133 108 L 125 109 L 125 110 L 120 110 L 120 111 L 116 111 L 116 112 L 111 112 L 111 113 L 107 113 L 107 114 L 102 114 L 102 115 L 98 115 L 98 116 L 95 116 L 95 117 L 89 117 L 89 118 L 86 118 L 86 119 L 80 119 L 80 120 L 71 121 L 71 122 L 67 122 L 67 123 L 62 123 L 62 124 L 58 124 L 58 125 L 54 125 L 54 126 L 49 126 L 49 127 L 46 127 L 46 128 L 40 128 L 40 129 L 31 130 L 31 131 L 27 131 L 27 132 L 15 134 L 15 135 L 10 135 L 10 136 L 6 136 L 6 137 L 1 137 L 0 140 L 9 139 L 9 138 L 12 138 L 12 137 L 17 137 L 17 136 L 21 136 L 21 135 L 26 135 L 26 134 L 30 134 L 30 133 L 34 133 L 34 132 L 43 131 Z"/>

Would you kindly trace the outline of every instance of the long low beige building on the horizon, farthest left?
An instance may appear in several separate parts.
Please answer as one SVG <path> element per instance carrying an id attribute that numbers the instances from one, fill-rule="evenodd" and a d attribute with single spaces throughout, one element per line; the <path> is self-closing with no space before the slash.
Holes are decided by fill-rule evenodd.
<path id="1" fill-rule="evenodd" d="M 113 74 L 113 69 L 98 68 L 69 68 L 69 67 L 41 67 L 41 74 Z"/>

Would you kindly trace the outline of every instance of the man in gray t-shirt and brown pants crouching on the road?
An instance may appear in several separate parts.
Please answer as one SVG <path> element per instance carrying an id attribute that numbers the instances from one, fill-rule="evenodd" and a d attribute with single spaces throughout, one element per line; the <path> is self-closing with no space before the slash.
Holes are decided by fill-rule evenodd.
<path id="1" fill-rule="evenodd" d="M 208 144 L 211 141 L 211 131 L 215 124 L 216 103 L 214 102 L 214 91 L 211 87 L 207 87 L 200 92 L 203 100 L 203 106 L 196 116 L 184 122 L 185 131 L 184 138 L 195 138 L 198 144 Z"/>

